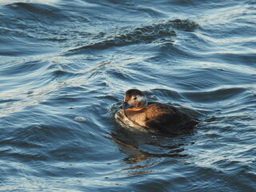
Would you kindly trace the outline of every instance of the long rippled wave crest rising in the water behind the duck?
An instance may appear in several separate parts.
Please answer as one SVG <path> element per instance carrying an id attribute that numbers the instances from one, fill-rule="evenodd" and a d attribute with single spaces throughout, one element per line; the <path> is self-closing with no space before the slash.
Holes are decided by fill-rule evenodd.
<path id="1" fill-rule="evenodd" d="M 95 34 L 85 46 L 80 46 L 69 52 L 77 53 L 78 50 L 102 50 L 111 46 L 124 46 L 136 43 L 149 43 L 158 38 L 173 37 L 176 30 L 194 31 L 198 23 L 190 19 L 175 19 L 153 23 L 151 25 L 130 27 L 129 29 L 114 30 L 109 34 L 104 32 Z"/>

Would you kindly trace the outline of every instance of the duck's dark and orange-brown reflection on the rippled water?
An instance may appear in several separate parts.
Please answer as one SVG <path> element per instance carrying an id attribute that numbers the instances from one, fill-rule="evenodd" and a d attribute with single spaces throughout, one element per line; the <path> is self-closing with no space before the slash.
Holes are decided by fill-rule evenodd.
<path id="1" fill-rule="evenodd" d="M 186 146 L 194 143 L 186 142 L 188 136 L 178 137 L 130 132 L 122 128 L 111 134 L 111 139 L 117 144 L 118 150 L 126 154 L 121 160 L 126 164 L 122 171 L 128 171 L 129 176 L 154 172 L 152 167 L 162 158 L 186 158 Z"/>

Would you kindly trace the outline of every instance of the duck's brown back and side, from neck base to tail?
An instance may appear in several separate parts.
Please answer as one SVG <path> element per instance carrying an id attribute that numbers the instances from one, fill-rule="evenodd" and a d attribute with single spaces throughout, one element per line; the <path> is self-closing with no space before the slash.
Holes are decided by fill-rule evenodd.
<path id="1" fill-rule="evenodd" d="M 125 110 L 124 114 L 131 122 L 168 134 L 188 133 L 199 122 L 175 106 L 158 102 L 150 102 L 142 110 Z"/>

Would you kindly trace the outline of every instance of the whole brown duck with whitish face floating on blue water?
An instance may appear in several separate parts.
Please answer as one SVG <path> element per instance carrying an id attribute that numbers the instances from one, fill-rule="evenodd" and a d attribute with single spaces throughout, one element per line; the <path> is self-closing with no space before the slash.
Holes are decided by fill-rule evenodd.
<path id="1" fill-rule="evenodd" d="M 200 122 L 176 106 L 147 102 L 141 90 L 126 90 L 122 106 L 114 115 L 119 125 L 129 130 L 162 134 L 186 134 Z"/>

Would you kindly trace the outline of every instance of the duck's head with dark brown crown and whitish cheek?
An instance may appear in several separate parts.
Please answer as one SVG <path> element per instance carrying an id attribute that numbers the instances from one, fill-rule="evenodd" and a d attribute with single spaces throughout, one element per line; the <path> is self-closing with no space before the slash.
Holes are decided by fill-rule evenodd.
<path id="1" fill-rule="evenodd" d="M 147 106 L 146 95 L 141 90 L 127 90 L 120 108 L 122 110 L 142 110 Z"/>

